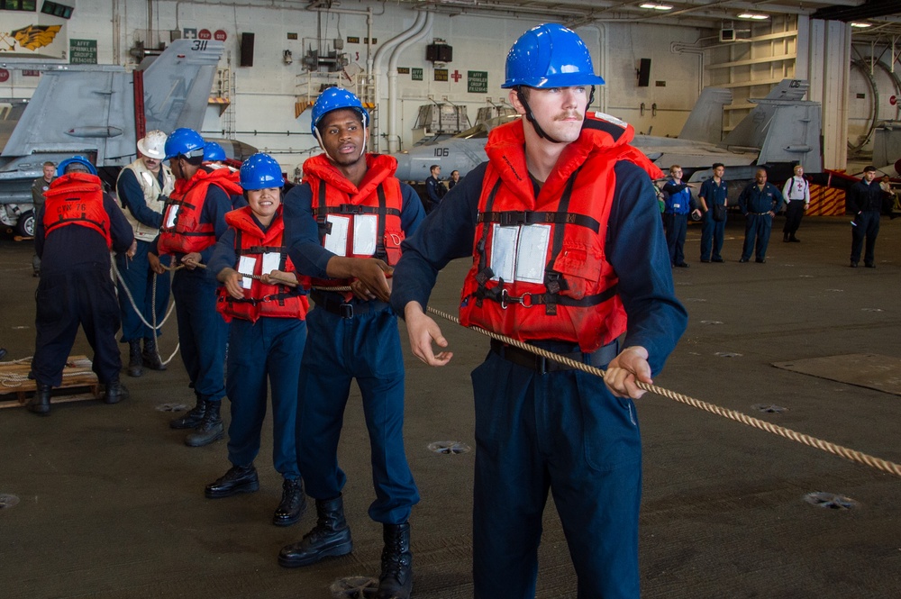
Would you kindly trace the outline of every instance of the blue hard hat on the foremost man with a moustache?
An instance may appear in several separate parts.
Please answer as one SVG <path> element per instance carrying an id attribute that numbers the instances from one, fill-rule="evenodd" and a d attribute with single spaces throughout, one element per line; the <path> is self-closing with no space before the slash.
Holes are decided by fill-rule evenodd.
<path id="1" fill-rule="evenodd" d="M 582 38 L 557 23 L 544 23 L 519 36 L 507 54 L 501 87 L 570 87 L 604 85 L 595 75 Z"/>

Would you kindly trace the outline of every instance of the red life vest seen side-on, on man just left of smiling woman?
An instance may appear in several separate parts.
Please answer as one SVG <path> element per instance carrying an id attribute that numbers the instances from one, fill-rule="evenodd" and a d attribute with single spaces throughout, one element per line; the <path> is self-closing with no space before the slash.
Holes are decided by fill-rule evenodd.
<path id="1" fill-rule="evenodd" d="M 200 222 L 209 186 L 219 186 L 228 195 L 241 194 L 241 186 L 233 181 L 227 168 L 212 172 L 200 168 L 187 181 L 178 179 L 175 190 L 163 208 L 159 227 L 159 254 L 189 254 L 202 251 L 216 242 L 212 222 Z"/>

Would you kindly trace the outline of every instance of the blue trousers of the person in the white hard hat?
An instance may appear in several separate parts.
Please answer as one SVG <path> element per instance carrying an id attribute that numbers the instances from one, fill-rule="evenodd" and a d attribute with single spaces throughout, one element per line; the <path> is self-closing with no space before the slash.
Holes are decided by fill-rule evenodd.
<path id="1" fill-rule="evenodd" d="M 134 304 L 138 306 L 144 320 L 153 322 L 153 286 L 156 281 L 157 290 L 157 325 L 166 317 L 169 296 L 169 273 L 155 275 L 150 270 L 150 262 L 147 260 L 147 252 L 150 251 L 150 243 L 138 241 L 138 251 L 134 258 L 128 259 L 125 254 L 117 254 L 115 266 L 119 270 L 122 280 L 119 281 L 119 309 L 122 312 L 122 337 L 123 343 L 133 340 L 153 339 L 153 329 L 141 322 L 141 317 L 135 312 L 132 302 L 123 290 L 123 283 L 128 286 L 129 292 L 134 298 Z M 160 256 L 159 262 L 164 266 L 169 265 L 169 256 Z M 157 336 L 162 334 L 157 330 Z"/>

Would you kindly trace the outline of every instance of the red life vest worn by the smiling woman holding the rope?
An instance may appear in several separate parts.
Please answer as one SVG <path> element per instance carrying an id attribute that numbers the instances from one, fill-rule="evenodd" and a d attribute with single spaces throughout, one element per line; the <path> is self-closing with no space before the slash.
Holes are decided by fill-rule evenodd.
<path id="1" fill-rule="evenodd" d="M 293 272 L 295 270 L 294 263 L 287 255 L 287 247 L 282 245 L 285 234 L 282 207 L 278 207 L 278 213 L 265 233 L 259 229 L 259 224 L 253 220 L 250 214 L 250 206 L 244 206 L 225 214 L 225 222 L 228 222 L 235 231 L 234 249 L 239 260 L 235 269 L 238 269 L 241 256 L 250 256 L 255 259 L 253 272 L 241 274 L 259 277 L 264 274 L 262 272 L 263 254 L 278 253 L 281 256 L 278 260 L 278 270 Z M 265 285 L 259 279 L 251 279 L 250 289 L 243 290 L 243 299 L 235 299 L 225 287 L 220 287 L 216 310 L 223 315 L 225 322 L 232 322 L 232 318 L 257 322 L 262 316 L 304 320 L 309 310 L 309 302 L 301 289 L 305 284 L 309 286 L 309 278 L 298 277 L 298 279 L 300 286 L 297 287 Z"/>

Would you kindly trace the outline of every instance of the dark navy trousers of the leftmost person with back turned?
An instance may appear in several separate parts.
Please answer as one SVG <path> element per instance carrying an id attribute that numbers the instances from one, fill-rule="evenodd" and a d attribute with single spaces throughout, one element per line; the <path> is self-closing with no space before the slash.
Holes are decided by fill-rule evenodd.
<path id="1" fill-rule="evenodd" d="M 78 325 L 94 349 L 91 369 L 101 383 L 119 378 L 122 358 L 115 334 L 119 331 L 119 305 L 115 301 L 109 264 L 52 274 L 44 269 L 34 295 L 32 373 L 41 385 L 62 385 L 62 369 L 75 344 Z"/>

